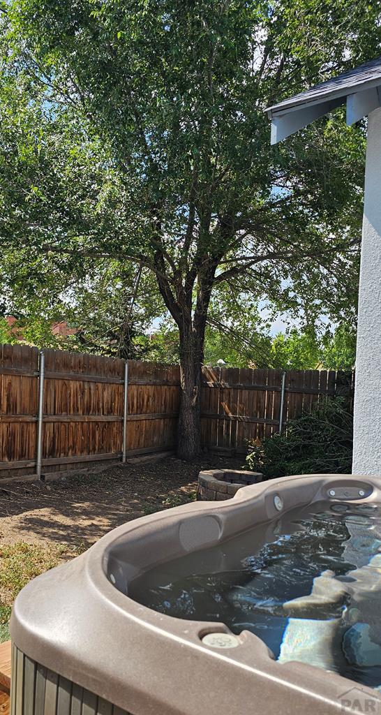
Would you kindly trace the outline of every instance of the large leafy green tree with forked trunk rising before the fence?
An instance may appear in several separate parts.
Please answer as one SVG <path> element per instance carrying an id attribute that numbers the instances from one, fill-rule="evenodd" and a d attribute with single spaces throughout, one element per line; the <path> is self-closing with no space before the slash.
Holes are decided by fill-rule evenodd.
<path id="1" fill-rule="evenodd" d="M 16 203 L 3 186 L 3 240 L 152 272 L 179 330 L 184 458 L 200 448 L 214 290 L 307 315 L 354 305 L 362 127 L 328 117 L 270 149 L 263 110 L 377 55 L 377 12 L 368 0 L 4 0 L 6 82 L 59 130 L 16 151 L 28 170 Z"/>

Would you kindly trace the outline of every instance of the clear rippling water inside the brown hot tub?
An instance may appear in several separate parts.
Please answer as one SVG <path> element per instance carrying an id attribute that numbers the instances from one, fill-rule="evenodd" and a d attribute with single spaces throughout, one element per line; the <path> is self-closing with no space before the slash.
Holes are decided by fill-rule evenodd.
<path id="1" fill-rule="evenodd" d="M 304 661 L 381 686 L 381 508 L 315 503 L 228 541 L 167 561 L 129 596 L 177 618 L 262 638 Z"/>

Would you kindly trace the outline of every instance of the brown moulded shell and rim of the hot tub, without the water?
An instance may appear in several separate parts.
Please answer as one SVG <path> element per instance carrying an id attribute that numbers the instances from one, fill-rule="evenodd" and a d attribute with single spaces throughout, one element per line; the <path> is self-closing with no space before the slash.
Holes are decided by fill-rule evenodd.
<path id="1" fill-rule="evenodd" d="M 353 681 L 307 664 L 280 664 L 249 631 L 235 636 L 236 647 L 208 646 L 202 637 L 229 633 L 224 623 L 172 618 L 125 595 L 139 573 L 159 562 L 254 525 L 265 531 L 279 513 L 321 500 L 380 503 L 380 478 L 292 476 L 242 488 L 230 501 L 192 503 L 114 529 L 21 591 L 11 618 L 17 662 L 27 656 L 29 664 L 59 674 L 57 682 L 134 715 L 338 714 Z M 379 692 L 357 689 L 381 707 Z M 54 697 L 56 709 L 46 715 L 61 715 Z"/>

